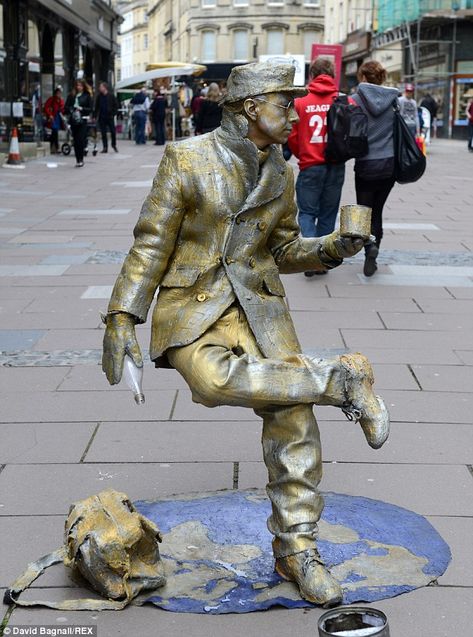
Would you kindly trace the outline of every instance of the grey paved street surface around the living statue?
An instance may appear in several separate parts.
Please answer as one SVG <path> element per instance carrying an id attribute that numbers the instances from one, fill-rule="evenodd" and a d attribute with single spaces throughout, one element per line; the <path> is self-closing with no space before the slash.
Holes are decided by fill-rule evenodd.
<path id="1" fill-rule="evenodd" d="M 137 407 L 98 365 L 99 312 L 160 157 L 155 146 L 122 142 L 119 154 L 80 170 L 61 156 L 0 170 L 2 589 L 61 544 L 71 502 L 104 488 L 153 499 L 265 484 L 253 412 L 194 405 L 177 373 L 151 364 Z M 374 451 L 337 409 L 316 410 L 322 489 L 421 513 L 453 552 L 438 584 L 376 604 L 392 637 L 473 635 L 473 157 L 466 143 L 436 141 L 428 163 L 419 184 L 391 195 L 372 279 L 360 258 L 324 277 L 284 277 L 304 348 L 365 353 L 392 415 L 391 438 Z M 347 175 L 343 202 L 352 203 L 351 166 Z M 138 333 L 146 349 L 149 325 Z M 56 566 L 25 598 L 83 594 Z M 315 636 L 319 615 L 17 608 L 9 625 L 98 624 L 101 637 L 286 637 Z"/>

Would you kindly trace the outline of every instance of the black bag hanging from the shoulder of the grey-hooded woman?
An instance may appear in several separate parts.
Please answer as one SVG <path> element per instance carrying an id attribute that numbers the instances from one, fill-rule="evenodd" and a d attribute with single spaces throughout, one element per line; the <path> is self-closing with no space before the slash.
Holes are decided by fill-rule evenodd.
<path id="1" fill-rule="evenodd" d="M 411 184 L 422 177 L 427 163 L 401 115 L 397 100 L 393 108 L 394 179 L 398 184 Z"/>

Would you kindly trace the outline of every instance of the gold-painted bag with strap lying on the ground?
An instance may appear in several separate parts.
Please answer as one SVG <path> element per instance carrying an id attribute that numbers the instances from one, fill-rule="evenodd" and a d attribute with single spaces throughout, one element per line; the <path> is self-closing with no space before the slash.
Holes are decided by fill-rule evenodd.
<path id="1" fill-rule="evenodd" d="M 141 591 L 166 583 L 158 547 L 161 539 L 154 522 L 138 513 L 124 493 L 102 491 L 71 506 L 64 546 L 29 564 L 6 591 L 4 602 L 61 610 L 120 610 Z M 61 561 L 108 599 L 18 599 L 48 566 Z"/>

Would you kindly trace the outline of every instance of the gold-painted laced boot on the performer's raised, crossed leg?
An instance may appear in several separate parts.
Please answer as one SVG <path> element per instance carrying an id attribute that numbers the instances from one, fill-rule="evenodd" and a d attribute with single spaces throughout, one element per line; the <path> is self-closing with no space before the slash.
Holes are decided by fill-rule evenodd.
<path id="1" fill-rule="evenodd" d="M 346 403 L 342 411 L 348 420 L 359 421 L 370 447 L 379 449 L 389 436 L 389 412 L 383 399 L 373 392 L 373 370 L 362 354 L 340 357 L 346 372 Z"/>

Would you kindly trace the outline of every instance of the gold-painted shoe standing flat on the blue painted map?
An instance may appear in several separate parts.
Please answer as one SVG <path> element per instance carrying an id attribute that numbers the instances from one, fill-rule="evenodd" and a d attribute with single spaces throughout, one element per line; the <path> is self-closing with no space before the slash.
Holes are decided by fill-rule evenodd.
<path id="1" fill-rule="evenodd" d="M 325 568 L 314 549 L 276 558 L 276 573 L 299 587 L 301 597 L 313 604 L 336 606 L 342 601 L 340 584 Z"/>

